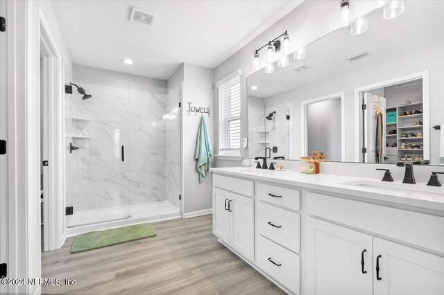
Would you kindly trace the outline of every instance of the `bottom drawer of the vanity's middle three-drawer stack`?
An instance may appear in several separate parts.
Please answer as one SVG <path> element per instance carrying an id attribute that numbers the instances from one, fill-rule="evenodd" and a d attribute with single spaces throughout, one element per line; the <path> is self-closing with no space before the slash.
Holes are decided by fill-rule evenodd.
<path id="1" fill-rule="evenodd" d="M 294 294 L 300 293 L 300 257 L 280 245 L 257 236 L 256 260 L 259 269 Z M 274 263 L 273 263 L 274 262 Z"/>

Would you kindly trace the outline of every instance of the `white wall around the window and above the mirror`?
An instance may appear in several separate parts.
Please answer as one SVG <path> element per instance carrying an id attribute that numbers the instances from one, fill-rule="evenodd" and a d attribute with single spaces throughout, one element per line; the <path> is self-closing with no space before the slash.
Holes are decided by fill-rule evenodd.
<path id="1" fill-rule="evenodd" d="M 365 15 L 375 8 L 377 8 L 377 1 L 352 1 L 351 5 L 352 12 L 356 17 Z M 337 28 L 339 28 L 339 1 L 307 0 L 214 69 L 214 81 L 219 81 L 229 73 L 232 73 L 237 69 L 241 69 L 242 138 L 248 136 L 248 93 L 246 77 L 250 75 L 250 73 L 253 73 L 253 70 L 251 69 L 251 55 L 253 55 L 255 49 L 266 44 L 268 40 L 282 34 L 284 30 L 288 30 L 289 35 L 291 36 L 291 48 L 292 51 L 295 51 L 296 48 L 305 46 L 314 40 L 331 33 Z M 214 91 L 214 108 L 216 111 L 216 118 L 218 115 L 216 114 L 218 102 L 218 93 L 217 91 Z M 214 149 L 217 150 L 219 147 L 219 125 L 217 120 L 215 121 L 214 128 L 216 132 L 214 137 Z M 230 161 L 228 165 L 234 166 L 234 163 L 235 162 Z M 237 164 L 240 165 L 240 161 Z M 221 167 L 227 165 L 227 163 L 217 160 L 215 165 L 217 167 Z"/>

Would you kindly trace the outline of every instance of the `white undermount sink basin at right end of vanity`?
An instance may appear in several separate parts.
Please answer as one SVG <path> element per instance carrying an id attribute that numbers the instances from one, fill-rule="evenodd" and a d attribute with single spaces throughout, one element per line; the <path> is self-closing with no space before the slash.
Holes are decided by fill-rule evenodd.
<path id="1" fill-rule="evenodd" d="M 444 197 L 444 187 L 425 184 L 402 184 L 401 182 L 358 180 L 343 183 L 345 186 L 383 190 L 386 193 L 404 193 L 415 195 L 434 195 Z"/>

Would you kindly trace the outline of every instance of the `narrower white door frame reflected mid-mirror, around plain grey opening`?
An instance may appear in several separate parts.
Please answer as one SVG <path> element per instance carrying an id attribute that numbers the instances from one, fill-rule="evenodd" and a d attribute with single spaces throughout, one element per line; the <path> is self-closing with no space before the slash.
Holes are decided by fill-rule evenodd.
<path id="1" fill-rule="evenodd" d="M 308 156 L 308 139 L 307 139 L 307 106 L 316 102 L 325 100 L 333 100 L 341 98 L 341 161 L 345 161 L 345 92 L 332 93 L 327 96 L 302 100 L 300 102 L 300 155 Z"/>

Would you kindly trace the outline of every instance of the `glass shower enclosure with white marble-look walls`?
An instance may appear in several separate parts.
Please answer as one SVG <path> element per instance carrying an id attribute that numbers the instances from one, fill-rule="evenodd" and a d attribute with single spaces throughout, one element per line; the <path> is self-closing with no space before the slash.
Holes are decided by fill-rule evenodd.
<path id="1" fill-rule="evenodd" d="M 68 230 L 179 217 L 180 91 L 74 80 L 92 98 L 74 93 L 65 108 Z"/>

